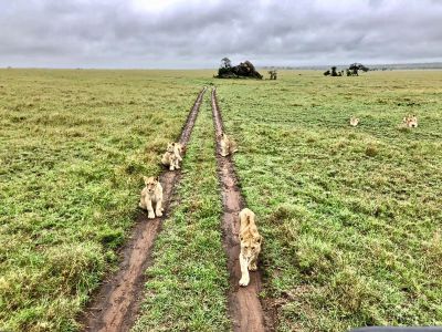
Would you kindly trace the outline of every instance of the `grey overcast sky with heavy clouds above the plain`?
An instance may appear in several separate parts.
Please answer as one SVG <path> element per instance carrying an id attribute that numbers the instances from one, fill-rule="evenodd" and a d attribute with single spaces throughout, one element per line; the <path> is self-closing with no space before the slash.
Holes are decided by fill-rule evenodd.
<path id="1" fill-rule="evenodd" d="M 0 66 L 442 61 L 442 0 L 0 0 Z"/>

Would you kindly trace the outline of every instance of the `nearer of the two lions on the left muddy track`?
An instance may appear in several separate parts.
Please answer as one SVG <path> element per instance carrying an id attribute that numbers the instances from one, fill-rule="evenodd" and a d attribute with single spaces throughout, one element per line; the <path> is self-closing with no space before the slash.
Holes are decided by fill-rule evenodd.
<path id="1" fill-rule="evenodd" d="M 141 190 L 141 199 L 139 200 L 139 207 L 148 211 L 147 217 L 154 219 L 155 216 L 162 216 L 162 186 L 159 183 L 159 177 L 147 177 L 144 176 L 146 187 Z M 154 207 L 155 204 L 155 214 Z"/>

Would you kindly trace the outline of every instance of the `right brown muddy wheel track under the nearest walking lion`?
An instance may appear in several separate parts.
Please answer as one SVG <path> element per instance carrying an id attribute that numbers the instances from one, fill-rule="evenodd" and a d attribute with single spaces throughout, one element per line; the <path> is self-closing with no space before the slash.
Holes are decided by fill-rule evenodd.
<path id="1" fill-rule="evenodd" d="M 223 131 L 222 117 L 217 100 L 217 91 L 212 90 L 212 114 L 217 136 Z M 217 139 L 217 164 L 223 201 L 222 230 L 223 247 L 228 255 L 230 272 L 229 314 L 233 321 L 233 331 L 270 331 L 272 325 L 264 312 L 257 294 L 261 291 L 261 276 L 250 272 L 250 284 L 240 287 L 240 229 L 239 211 L 244 207 L 244 199 L 238 186 L 234 165 L 231 157 L 220 155 Z M 259 226 L 259 225 L 257 225 Z"/>

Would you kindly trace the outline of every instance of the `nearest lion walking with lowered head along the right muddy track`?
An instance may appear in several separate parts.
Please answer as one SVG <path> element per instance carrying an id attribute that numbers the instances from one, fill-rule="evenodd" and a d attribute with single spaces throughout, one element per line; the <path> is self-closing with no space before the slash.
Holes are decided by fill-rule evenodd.
<path id="1" fill-rule="evenodd" d="M 249 270 L 256 271 L 257 255 L 261 251 L 263 237 L 257 232 L 255 214 L 251 209 L 242 209 L 240 212 L 240 286 L 248 286 L 250 282 Z"/>

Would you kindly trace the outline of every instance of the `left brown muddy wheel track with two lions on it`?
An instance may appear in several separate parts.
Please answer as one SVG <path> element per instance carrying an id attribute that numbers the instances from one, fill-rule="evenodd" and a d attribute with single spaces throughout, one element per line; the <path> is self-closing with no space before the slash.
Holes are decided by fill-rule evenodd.
<path id="1" fill-rule="evenodd" d="M 204 92 L 206 87 L 199 93 L 182 128 L 179 138 L 182 144 L 189 142 Z M 147 219 L 147 212 L 139 212 L 131 237 L 122 250 L 122 263 L 117 272 L 104 281 L 80 320 L 84 331 L 123 332 L 134 325 L 143 301 L 144 271 L 151 263 L 154 240 L 161 229 L 161 220 L 168 216 L 173 188 L 180 176 L 181 172 L 177 170 L 165 170 L 160 175 L 165 197 L 164 217 Z"/>

